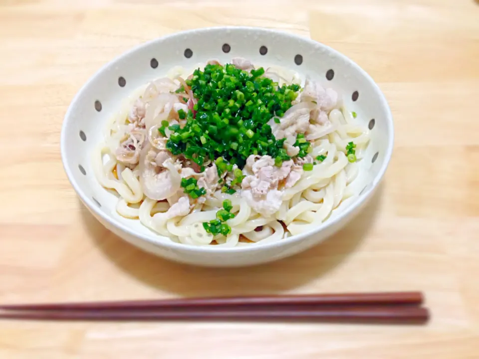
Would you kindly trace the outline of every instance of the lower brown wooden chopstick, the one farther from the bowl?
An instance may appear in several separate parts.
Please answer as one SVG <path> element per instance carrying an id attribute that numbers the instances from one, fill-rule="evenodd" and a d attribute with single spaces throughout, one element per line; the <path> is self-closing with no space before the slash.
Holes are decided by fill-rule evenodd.
<path id="1" fill-rule="evenodd" d="M 419 306 L 361 306 L 303 310 L 288 309 L 216 309 L 181 310 L 1 310 L 0 318 L 27 320 L 83 320 L 83 321 L 161 321 L 161 320 L 286 320 L 314 322 L 365 322 L 422 324 L 429 319 L 429 311 Z"/>

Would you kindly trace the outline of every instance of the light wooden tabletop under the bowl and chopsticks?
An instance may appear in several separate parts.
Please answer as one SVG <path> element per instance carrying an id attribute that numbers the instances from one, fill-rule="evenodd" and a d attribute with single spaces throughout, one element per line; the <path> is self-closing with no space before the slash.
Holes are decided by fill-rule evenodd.
<path id="1" fill-rule="evenodd" d="M 479 358 L 479 4 L 474 0 L 1 0 L 0 302 L 423 290 L 425 327 L 0 322 L 0 358 Z M 106 231 L 63 173 L 80 86 L 133 45 L 254 25 L 351 57 L 396 141 L 380 193 L 305 253 L 244 269 L 167 262 Z"/>

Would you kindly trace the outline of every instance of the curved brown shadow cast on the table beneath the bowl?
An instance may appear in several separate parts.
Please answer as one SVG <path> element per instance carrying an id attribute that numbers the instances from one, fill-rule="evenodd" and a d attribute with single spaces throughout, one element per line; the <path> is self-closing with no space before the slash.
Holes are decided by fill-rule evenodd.
<path id="1" fill-rule="evenodd" d="M 127 275 L 179 296 L 274 294 L 303 286 L 339 266 L 368 234 L 380 210 L 380 185 L 361 213 L 313 248 L 275 262 L 242 268 L 179 264 L 144 252 L 108 231 L 81 205 L 93 244 Z"/>

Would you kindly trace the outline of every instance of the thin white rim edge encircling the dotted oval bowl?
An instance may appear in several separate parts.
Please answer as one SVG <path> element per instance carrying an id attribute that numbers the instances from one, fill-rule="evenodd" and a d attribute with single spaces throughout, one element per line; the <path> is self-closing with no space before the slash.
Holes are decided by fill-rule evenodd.
<path id="1" fill-rule="evenodd" d="M 240 31 L 257 31 L 257 32 L 262 32 L 262 33 L 267 33 L 267 34 L 280 34 L 281 36 L 287 37 L 290 40 L 300 40 L 308 43 L 309 45 L 313 47 L 321 47 L 324 50 L 333 53 L 335 56 L 338 56 L 348 62 L 356 71 L 359 71 L 372 85 L 373 88 L 377 91 L 379 94 L 379 101 L 381 102 L 382 106 L 384 106 L 387 116 L 384 119 L 384 121 L 390 122 L 391 126 L 388 126 L 389 130 L 387 133 L 388 136 L 388 146 L 386 149 L 386 153 L 384 155 L 384 163 L 382 164 L 381 168 L 379 169 L 378 175 L 373 179 L 372 185 L 362 194 L 360 194 L 358 200 L 345 208 L 341 213 L 339 213 L 336 217 L 331 218 L 329 220 L 326 220 L 325 222 L 322 222 L 318 224 L 318 226 L 314 229 L 308 230 L 304 233 L 300 233 L 297 235 L 293 235 L 287 238 L 284 238 L 281 241 L 277 242 L 272 242 L 272 243 L 265 243 L 265 244 L 260 244 L 258 242 L 258 245 L 248 245 L 248 246 L 239 246 L 239 247 L 222 247 L 222 246 L 211 246 L 211 245 L 204 245 L 204 246 L 195 246 L 192 244 L 183 244 L 183 243 L 176 243 L 173 241 L 165 241 L 165 242 L 160 242 L 158 240 L 155 240 L 155 236 L 160 236 L 159 234 L 155 234 L 153 231 L 151 235 L 147 235 L 144 233 L 138 233 L 135 232 L 131 227 L 129 227 L 126 224 L 121 223 L 120 221 L 116 220 L 115 218 L 107 215 L 104 211 L 101 211 L 97 208 L 95 203 L 93 202 L 92 199 L 90 199 L 86 194 L 83 193 L 81 190 L 80 186 L 78 183 L 75 181 L 72 171 L 70 167 L 67 164 L 67 159 L 65 157 L 66 153 L 66 128 L 67 128 L 67 123 L 68 119 L 71 117 L 71 114 L 73 112 L 73 106 L 74 104 L 79 100 L 79 98 L 82 97 L 82 95 L 86 92 L 86 88 L 90 85 L 91 82 L 103 71 L 108 69 L 110 66 L 112 66 L 114 63 L 117 61 L 121 60 L 124 57 L 127 57 L 134 52 L 142 49 L 149 47 L 155 43 L 161 42 L 167 38 L 174 38 L 174 37 L 180 37 L 180 36 L 188 36 L 192 33 L 198 33 L 198 32 L 209 32 L 209 31 L 218 31 L 218 30 L 240 30 Z M 166 247 L 170 250 L 179 250 L 182 252 L 190 252 L 190 253 L 203 253 L 203 254 L 225 254 L 225 253 L 247 253 L 247 252 L 254 252 L 258 250 L 267 250 L 267 249 L 272 249 L 272 248 L 278 248 L 282 247 L 284 245 L 294 245 L 295 243 L 300 242 L 303 240 L 305 237 L 308 237 L 312 234 L 318 233 L 320 231 L 326 230 L 328 227 L 332 227 L 338 222 L 342 221 L 344 218 L 348 217 L 352 212 L 357 207 L 360 207 L 365 201 L 370 197 L 372 192 L 377 188 L 378 184 L 381 182 L 381 180 L 384 178 L 384 174 L 388 168 L 389 162 L 391 160 L 392 152 L 393 152 L 393 147 L 394 147 L 394 124 L 393 124 L 393 117 L 391 113 L 391 109 L 389 107 L 389 104 L 379 88 L 379 86 L 376 84 L 376 82 L 373 80 L 373 78 L 366 72 L 364 71 L 358 64 L 356 64 L 353 60 L 351 60 L 349 57 L 346 55 L 342 54 L 341 52 L 333 49 L 332 47 L 325 45 L 321 42 L 312 40 L 308 37 L 293 34 L 290 32 L 282 31 L 282 30 L 275 30 L 275 29 L 268 29 L 268 28 L 262 28 L 262 27 L 253 27 L 253 26 L 211 26 L 211 27 L 203 27 L 203 28 L 197 28 L 197 29 L 190 29 L 190 30 L 183 30 L 179 32 L 174 32 L 171 34 L 167 34 L 165 36 L 161 36 L 149 41 L 146 41 L 144 43 L 141 43 L 139 45 L 136 45 L 132 47 L 131 49 L 121 53 L 120 55 L 116 56 L 112 60 L 108 61 L 106 64 L 104 64 L 102 67 L 100 67 L 99 70 L 97 70 L 82 86 L 81 88 L 77 91 L 75 96 L 70 102 L 70 105 L 68 106 L 68 109 L 65 113 L 65 116 L 63 117 L 63 123 L 61 127 L 61 132 L 60 132 L 60 155 L 61 155 L 61 161 L 63 164 L 63 169 L 67 175 L 67 178 L 69 182 L 71 183 L 73 189 L 75 190 L 76 194 L 80 197 L 80 199 L 83 201 L 84 204 L 89 208 L 89 210 L 93 211 L 95 215 L 101 217 L 103 220 L 106 222 L 110 223 L 114 227 L 118 228 L 119 230 L 126 232 L 127 234 L 144 240 L 152 245 L 159 246 L 159 247 Z"/>

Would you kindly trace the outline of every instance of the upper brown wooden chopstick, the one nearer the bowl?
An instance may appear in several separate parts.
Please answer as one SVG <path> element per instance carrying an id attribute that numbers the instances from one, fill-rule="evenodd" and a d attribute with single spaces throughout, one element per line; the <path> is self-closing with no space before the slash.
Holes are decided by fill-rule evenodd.
<path id="1" fill-rule="evenodd" d="M 155 308 L 198 308 L 230 306 L 265 305 L 420 305 L 423 302 L 421 292 L 385 292 L 385 293 L 346 293 L 314 295 L 281 295 L 258 297 L 217 297 L 217 298 L 179 298 L 162 300 L 134 300 L 114 302 L 85 303 L 45 303 L 45 304 L 8 304 L 0 305 L 4 310 L 88 310 L 88 309 L 155 309 Z"/>

